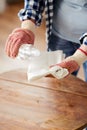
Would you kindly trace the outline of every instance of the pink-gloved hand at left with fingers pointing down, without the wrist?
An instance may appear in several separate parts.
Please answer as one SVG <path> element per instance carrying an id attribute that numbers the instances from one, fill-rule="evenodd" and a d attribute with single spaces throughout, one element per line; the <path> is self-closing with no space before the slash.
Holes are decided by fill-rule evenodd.
<path id="1" fill-rule="evenodd" d="M 34 34 L 28 29 L 15 29 L 8 36 L 5 45 L 5 51 L 9 57 L 15 58 L 18 55 L 19 48 L 22 44 L 34 44 Z"/>

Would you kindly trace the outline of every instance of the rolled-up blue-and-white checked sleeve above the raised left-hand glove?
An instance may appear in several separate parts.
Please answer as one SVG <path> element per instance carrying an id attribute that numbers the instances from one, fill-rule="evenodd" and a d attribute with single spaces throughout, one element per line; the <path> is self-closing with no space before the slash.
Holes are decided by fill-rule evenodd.
<path id="1" fill-rule="evenodd" d="M 39 26 L 42 21 L 44 5 L 44 0 L 24 0 L 24 9 L 18 12 L 19 19 L 21 21 L 32 19 Z"/>

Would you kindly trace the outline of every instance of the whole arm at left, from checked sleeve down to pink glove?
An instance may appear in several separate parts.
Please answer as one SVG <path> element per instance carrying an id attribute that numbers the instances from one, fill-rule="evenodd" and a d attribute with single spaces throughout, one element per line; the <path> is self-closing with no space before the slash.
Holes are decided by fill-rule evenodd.
<path id="1" fill-rule="evenodd" d="M 22 44 L 34 44 L 35 26 L 41 24 L 43 9 L 43 0 L 25 0 L 24 9 L 18 13 L 21 27 L 14 29 L 6 41 L 5 51 L 9 57 L 15 58 Z"/>

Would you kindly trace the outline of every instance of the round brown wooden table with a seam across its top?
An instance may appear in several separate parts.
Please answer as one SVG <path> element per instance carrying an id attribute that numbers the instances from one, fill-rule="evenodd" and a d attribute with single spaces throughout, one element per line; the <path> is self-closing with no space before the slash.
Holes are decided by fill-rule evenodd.
<path id="1" fill-rule="evenodd" d="M 0 75 L 0 130 L 82 130 L 87 126 L 87 83 L 43 77 L 26 70 Z"/>

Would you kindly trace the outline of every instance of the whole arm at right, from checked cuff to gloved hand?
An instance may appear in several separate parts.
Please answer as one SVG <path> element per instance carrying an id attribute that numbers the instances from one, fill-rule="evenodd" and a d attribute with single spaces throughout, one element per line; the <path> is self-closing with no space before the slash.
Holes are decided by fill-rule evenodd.
<path id="1" fill-rule="evenodd" d="M 56 70 L 55 72 L 53 72 L 53 75 L 58 79 L 64 78 L 67 75 L 71 74 L 72 72 L 78 70 L 80 65 L 87 60 L 87 35 L 85 35 L 85 37 L 83 35 L 80 38 L 80 42 L 82 43 L 82 45 L 80 46 L 79 49 L 77 49 L 77 51 L 72 56 L 67 57 L 60 64 L 52 66 L 53 69 Z M 62 70 L 61 76 L 60 71 L 57 71 L 58 67 L 61 67 Z M 68 72 L 66 69 L 68 70 Z"/>

